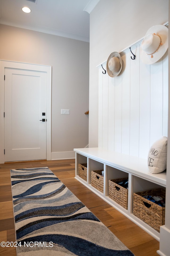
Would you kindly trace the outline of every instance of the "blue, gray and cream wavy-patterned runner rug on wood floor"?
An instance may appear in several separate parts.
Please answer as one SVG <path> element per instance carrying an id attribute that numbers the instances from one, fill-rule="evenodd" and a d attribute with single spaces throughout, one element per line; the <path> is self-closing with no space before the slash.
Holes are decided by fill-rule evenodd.
<path id="1" fill-rule="evenodd" d="M 48 167 L 11 183 L 18 256 L 134 256 Z"/>

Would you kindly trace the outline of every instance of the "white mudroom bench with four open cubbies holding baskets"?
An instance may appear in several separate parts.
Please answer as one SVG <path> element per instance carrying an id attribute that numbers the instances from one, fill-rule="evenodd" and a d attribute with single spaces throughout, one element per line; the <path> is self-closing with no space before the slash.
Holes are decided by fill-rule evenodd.
<path id="1" fill-rule="evenodd" d="M 152 174 L 148 169 L 147 159 L 98 147 L 74 149 L 74 151 L 76 160 L 75 178 L 159 241 L 159 232 L 133 214 L 133 193 L 157 188 L 165 189 L 166 172 Z M 79 166 L 85 163 L 87 163 L 85 168 L 87 176 L 82 178 L 79 175 Z M 91 185 L 91 172 L 95 170 L 103 170 L 103 192 Z M 109 180 L 121 178 L 128 178 L 129 183 L 127 209 L 109 197 Z"/>

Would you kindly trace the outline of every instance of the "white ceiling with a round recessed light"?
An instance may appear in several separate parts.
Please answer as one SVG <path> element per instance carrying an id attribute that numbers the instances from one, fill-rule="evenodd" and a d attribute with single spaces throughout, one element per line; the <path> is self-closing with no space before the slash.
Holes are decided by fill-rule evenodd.
<path id="1" fill-rule="evenodd" d="M 0 24 L 89 42 L 89 13 L 99 1 L 0 0 Z M 24 13 L 24 6 L 31 13 Z"/>

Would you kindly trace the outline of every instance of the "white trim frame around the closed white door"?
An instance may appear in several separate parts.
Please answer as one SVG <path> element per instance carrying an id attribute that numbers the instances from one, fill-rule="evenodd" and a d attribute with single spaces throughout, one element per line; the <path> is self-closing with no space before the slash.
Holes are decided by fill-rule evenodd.
<path id="1" fill-rule="evenodd" d="M 46 159 L 51 160 L 51 82 L 52 66 L 31 64 L 24 62 L 0 60 L 0 163 L 5 162 L 5 131 L 4 131 L 4 105 L 5 105 L 5 68 L 24 69 L 46 72 L 47 91 L 46 91 Z"/>

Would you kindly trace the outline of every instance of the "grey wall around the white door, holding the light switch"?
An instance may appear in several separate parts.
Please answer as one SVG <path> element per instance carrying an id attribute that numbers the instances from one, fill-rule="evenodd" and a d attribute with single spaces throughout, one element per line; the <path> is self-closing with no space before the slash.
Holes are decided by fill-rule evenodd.
<path id="1" fill-rule="evenodd" d="M 52 66 L 52 159 L 74 157 L 88 145 L 89 43 L 5 25 L 0 42 L 0 59 Z"/>

